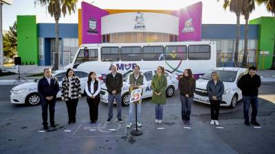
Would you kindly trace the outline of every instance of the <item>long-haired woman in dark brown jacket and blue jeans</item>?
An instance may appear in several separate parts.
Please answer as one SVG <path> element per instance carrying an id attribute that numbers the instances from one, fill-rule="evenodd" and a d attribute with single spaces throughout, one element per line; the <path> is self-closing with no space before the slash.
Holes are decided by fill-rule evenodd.
<path id="1" fill-rule="evenodd" d="M 184 125 L 191 125 L 191 105 L 194 98 L 196 81 L 190 68 L 184 70 L 184 75 L 179 79 L 179 98 L 181 100 L 181 119 Z"/>

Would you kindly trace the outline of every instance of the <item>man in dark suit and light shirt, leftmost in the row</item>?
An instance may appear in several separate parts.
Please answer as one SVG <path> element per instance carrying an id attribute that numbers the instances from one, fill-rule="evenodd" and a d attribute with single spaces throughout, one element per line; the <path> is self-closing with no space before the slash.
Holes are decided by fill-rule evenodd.
<path id="1" fill-rule="evenodd" d="M 51 68 L 44 69 L 44 77 L 39 80 L 38 91 L 41 96 L 42 103 L 42 118 L 44 129 L 47 127 L 47 107 L 49 106 L 50 124 L 56 127 L 54 123 L 54 107 L 56 105 L 56 94 L 59 91 L 58 79 L 52 76 Z"/>

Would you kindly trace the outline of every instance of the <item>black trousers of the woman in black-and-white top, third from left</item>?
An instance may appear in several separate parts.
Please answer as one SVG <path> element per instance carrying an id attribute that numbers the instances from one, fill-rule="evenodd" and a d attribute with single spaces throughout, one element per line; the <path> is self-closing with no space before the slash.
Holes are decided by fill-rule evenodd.
<path id="1" fill-rule="evenodd" d="M 98 105 L 99 105 L 99 102 L 100 102 L 99 94 L 94 99 L 92 99 L 91 97 L 87 98 L 87 103 L 89 105 L 89 114 L 90 114 L 90 120 L 91 121 L 98 120 Z"/>

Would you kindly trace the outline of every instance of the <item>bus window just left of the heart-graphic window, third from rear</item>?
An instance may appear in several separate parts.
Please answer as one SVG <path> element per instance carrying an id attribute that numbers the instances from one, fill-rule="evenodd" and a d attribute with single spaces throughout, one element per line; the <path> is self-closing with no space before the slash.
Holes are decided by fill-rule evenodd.
<path id="1" fill-rule="evenodd" d="M 164 47 L 163 46 L 143 47 L 142 60 L 144 61 L 164 60 Z"/>

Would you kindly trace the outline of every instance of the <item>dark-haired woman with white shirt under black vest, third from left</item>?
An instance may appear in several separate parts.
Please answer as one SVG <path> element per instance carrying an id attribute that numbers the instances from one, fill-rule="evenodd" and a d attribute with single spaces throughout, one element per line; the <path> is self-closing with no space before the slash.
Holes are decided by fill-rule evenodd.
<path id="1" fill-rule="evenodd" d="M 100 82 L 96 79 L 96 73 L 90 72 L 86 84 L 87 103 L 89 105 L 90 123 L 98 120 L 98 105 L 100 102 Z"/>

